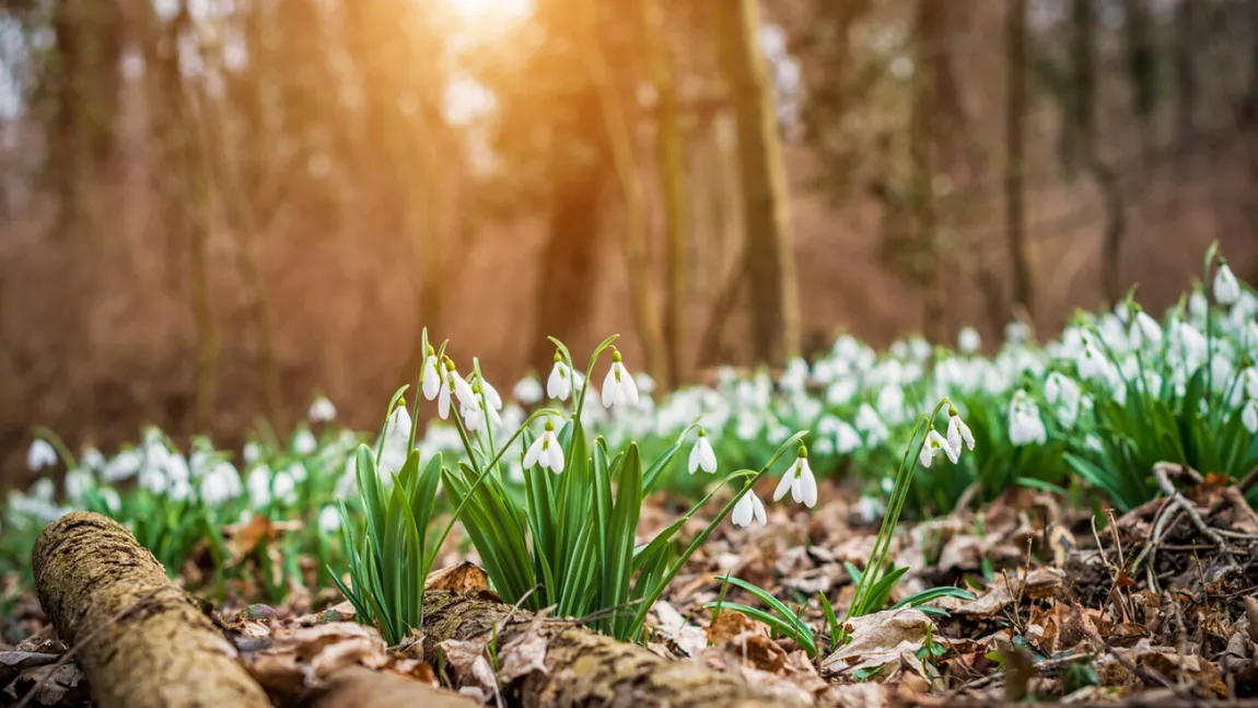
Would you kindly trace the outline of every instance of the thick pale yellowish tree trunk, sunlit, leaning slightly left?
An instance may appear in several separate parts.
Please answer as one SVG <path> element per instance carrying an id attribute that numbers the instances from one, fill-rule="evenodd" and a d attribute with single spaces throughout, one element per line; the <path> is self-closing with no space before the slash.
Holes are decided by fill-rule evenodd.
<path id="1" fill-rule="evenodd" d="M 799 353 L 799 283 L 772 87 L 757 41 L 760 3 L 722 0 L 720 8 L 717 34 L 738 126 L 751 348 L 759 362 L 777 366 Z"/>

